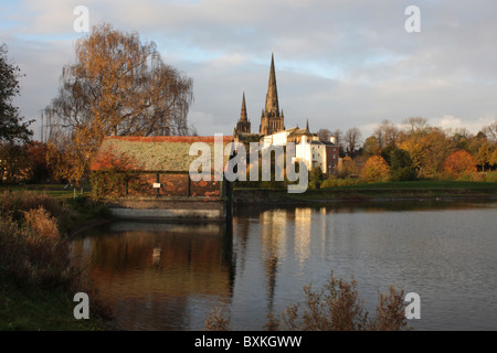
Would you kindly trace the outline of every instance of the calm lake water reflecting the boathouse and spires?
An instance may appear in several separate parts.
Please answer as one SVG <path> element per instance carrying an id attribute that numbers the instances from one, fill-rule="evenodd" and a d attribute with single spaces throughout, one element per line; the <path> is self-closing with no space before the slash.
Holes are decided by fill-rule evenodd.
<path id="1" fill-rule="evenodd" d="M 126 330 L 203 330 L 225 306 L 264 330 L 322 286 L 356 279 L 364 308 L 394 284 L 421 297 L 415 330 L 497 330 L 497 203 L 405 202 L 235 210 L 232 225 L 116 222 L 74 240 Z"/>

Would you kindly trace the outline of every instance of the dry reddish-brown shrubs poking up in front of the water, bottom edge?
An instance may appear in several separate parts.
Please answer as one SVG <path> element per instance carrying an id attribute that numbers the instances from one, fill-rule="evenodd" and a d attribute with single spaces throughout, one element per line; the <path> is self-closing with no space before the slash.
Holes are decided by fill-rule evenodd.
<path id="1" fill-rule="evenodd" d="M 403 290 L 394 286 L 380 295 L 376 315 L 363 308 L 357 282 L 330 278 L 322 288 L 304 286 L 305 300 L 289 304 L 281 317 L 268 318 L 269 331 L 405 331 L 408 325 Z M 213 308 L 205 320 L 208 331 L 230 331 L 230 314 L 225 307 Z"/>

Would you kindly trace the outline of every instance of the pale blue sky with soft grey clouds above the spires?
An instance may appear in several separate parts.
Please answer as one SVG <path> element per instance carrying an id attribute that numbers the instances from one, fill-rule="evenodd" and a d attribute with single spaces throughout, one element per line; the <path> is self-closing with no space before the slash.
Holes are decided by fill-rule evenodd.
<path id="1" fill-rule="evenodd" d="M 36 119 L 35 138 L 88 35 L 74 29 L 77 6 L 89 31 L 137 32 L 193 78 L 188 119 L 202 136 L 233 133 L 243 93 L 258 132 L 272 53 L 286 128 L 308 119 L 313 132 L 357 127 L 366 138 L 382 120 L 423 117 L 477 133 L 497 119 L 495 0 L 2 0 L 0 44 L 25 75 L 14 104 Z"/>

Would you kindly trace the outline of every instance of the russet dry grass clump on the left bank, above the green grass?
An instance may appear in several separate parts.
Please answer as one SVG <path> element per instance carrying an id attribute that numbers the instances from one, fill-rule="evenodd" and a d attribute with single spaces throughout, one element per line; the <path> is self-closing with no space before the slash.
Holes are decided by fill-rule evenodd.
<path id="1" fill-rule="evenodd" d="M 4 192 L 0 216 L 0 270 L 9 278 L 42 288 L 70 288 L 80 282 L 68 239 L 60 231 L 70 210 L 47 195 Z"/>

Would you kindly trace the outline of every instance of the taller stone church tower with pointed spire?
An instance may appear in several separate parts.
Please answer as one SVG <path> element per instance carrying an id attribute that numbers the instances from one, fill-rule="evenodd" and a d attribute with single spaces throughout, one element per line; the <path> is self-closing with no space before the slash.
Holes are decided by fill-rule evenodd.
<path id="1" fill-rule="evenodd" d="M 261 135 L 272 135 L 285 130 L 283 111 L 279 114 L 274 55 L 271 55 L 269 82 L 266 94 L 266 107 L 261 115 Z"/>

